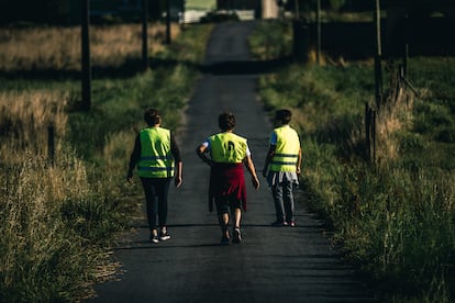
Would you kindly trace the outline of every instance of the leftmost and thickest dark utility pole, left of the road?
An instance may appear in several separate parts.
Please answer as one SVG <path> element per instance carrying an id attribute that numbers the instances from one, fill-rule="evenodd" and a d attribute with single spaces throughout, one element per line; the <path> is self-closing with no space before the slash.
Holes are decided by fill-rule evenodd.
<path id="1" fill-rule="evenodd" d="M 82 54 L 82 110 L 91 106 L 91 66 L 90 66 L 90 4 L 89 0 L 81 3 L 81 54 Z"/>

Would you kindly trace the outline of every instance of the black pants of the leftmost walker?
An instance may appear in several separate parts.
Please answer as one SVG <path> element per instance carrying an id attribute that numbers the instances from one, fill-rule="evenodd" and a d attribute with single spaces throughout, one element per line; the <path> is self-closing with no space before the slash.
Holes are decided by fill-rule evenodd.
<path id="1" fill-rule="evenodd" d="M 171 178 L 141 178 L 145 193 L 147 221 L 149 229 L 156 228 L 156 215 L 159 227 L 167 222 L 167 195 Z"/>

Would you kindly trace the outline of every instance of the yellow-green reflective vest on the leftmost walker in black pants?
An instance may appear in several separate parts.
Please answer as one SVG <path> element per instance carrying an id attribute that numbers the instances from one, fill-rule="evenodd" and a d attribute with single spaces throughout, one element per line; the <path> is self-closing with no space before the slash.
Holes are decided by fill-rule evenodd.
<path id="1" fill-rule="evenodd" d="M 174 157 L 170 152 L 170 131 L 162 127 L 140 132 L 141 159 L 137 176 L 145 178 L 174 177 Z"/>

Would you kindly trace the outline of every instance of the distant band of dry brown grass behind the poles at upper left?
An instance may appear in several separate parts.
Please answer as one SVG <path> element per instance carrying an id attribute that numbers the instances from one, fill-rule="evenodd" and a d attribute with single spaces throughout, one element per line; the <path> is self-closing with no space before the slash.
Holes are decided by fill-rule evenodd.
<path id="1" fill-rule="evenodd" d="M 149 24 L 151 53 L 165 48 L 165 25 Z M 175 38 L 180 27 L 173 23 Z M 142 25 L 90 26 L 90 56 L 93 66 L 118 67 L 126 59 L 141 58 Z M 0 29 L 0 70 L 80 70 L 80 26 Z"/>

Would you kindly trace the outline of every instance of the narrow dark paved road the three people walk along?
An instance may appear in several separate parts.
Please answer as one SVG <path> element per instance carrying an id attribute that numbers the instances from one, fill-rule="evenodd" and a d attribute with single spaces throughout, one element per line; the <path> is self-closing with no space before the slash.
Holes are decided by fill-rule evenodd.
<path id="1" fill-rule="evenodd" d="M 297 204 L 297 227 L 269 226 L 274 206 L 263 178 L 255 191 L 247 177 L 244 242 L 219 245 L 217 217 L 207 206 L 209 168 L 195 149 L 218 132 L 218 114 L 231 110 L 236 115 L 236 133 L 248 138 L 256 167 L 263 167 L 271 125 L 255 97 L 257 76 L 240 68 L 249 59 L 246 37 L 253 26 L 253 22 L 222 23 L 209 42 L 207 72 L 189 102 L 180 136 L 184 186 L 170 192 L 171 240 L 148 244 L 144 220 L 115 250 L 124 273 L 119 281 L 98 285 L 98 296 L 91 302 L 370 301 L 368 291 L 323 237 L 320 222 L 303 210 L 304 201 Z M 233 75 L 232 70 L 242 72 Z"/>

